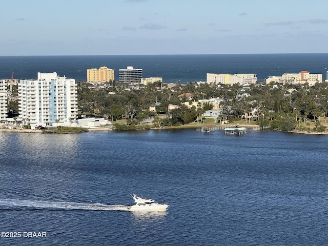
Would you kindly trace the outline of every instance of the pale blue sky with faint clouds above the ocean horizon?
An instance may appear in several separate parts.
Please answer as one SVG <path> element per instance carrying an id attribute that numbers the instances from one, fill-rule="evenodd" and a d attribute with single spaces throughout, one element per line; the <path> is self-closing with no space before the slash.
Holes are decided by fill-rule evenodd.
<path id="1" fill-rule="evenodd" d="M 327 0 L 4 0 L 0 55 L 328 53 Z"/>

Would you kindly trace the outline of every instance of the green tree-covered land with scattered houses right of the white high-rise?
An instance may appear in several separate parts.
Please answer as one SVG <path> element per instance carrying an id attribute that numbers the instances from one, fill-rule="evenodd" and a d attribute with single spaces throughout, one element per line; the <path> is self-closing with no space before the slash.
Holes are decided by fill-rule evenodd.
<path id="1" fill-rule="evenodd" d="M 123 83 L 110 83 L 105 88 L 91 90 L 90 85 L 78 83 L 78 104 L 81 114 L 98 114 L 110 120 L 126 119 L 128 125 L 138 125 L 147 117 L 155 117 L 155 126 L 178 126 L 199 121 L 202 113 L 212 109 L 212 104 L 199 107 L 186 106 L 186 93 L 194 101 L 199 99 L 222 98 L 220 105 L 224 119 L 229 121 L 244 118 L 254 120 L 259 126 L 290 131 L 309 130 L 309 122 L 315 122 L 313 130 L 322 131 L 320 119 L 328 114 L 328 84 L 255 84 L 247 87 L 234 85 L 175 84 L 168 88 L 161 83 L 139 85 L 133 88 Z M 291 90 L 290 90 L 291 89 Z M 179 95 L 183 95 L 180 96 Z M 168 105 L 180 106 L 168 112 Z M 149 107 L 156 105 L 156 112 Z M 255 109 L 255 111 L 254 111 Z M 252 118 L 249 113 L 254 111 Z M 169 117 L 158 118 L 158 113 Z M 311 129 L 312 130 L 312 129 Z"/>

